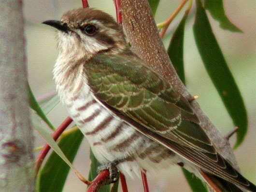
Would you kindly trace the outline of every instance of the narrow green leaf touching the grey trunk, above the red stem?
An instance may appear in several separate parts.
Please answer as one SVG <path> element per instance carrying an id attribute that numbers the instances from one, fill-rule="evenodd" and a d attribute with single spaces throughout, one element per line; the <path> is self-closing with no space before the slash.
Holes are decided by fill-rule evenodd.
<path id="1" fill-rule="evenodd" d="M 28 84 L 28 94 L 29 94 L 29 106 L 31 109 L 33 109 L 34 111 L 37 112 L 37 114 L 41 117 L 41 119 L 53 130 L 55 130 L 55 127 L 53 126 L 53 124 L 48 120 L 48 118 L 45 116 L 45 114 L 43 113 L 43 110 L 40 108 L 40 106 L 38 105 L 35 96 L 33 95 L 31 88 Z"/>

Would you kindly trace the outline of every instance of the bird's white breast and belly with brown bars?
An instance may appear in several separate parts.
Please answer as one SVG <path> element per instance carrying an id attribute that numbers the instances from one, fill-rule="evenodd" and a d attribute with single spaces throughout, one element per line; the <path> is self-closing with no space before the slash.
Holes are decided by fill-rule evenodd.
<path id="1" fill-rule="evenodd" d="M 54 70 L 57 91 L 74 122 L 87 138 L 100 163 L 121 160 L 117 168 L 131 177 L 142 169 L 157 171 L 182 159 L 171 150 L 143 136 L 119 117 L 110 113 L 94 98 L 86 77 L 76 66 Z"/>

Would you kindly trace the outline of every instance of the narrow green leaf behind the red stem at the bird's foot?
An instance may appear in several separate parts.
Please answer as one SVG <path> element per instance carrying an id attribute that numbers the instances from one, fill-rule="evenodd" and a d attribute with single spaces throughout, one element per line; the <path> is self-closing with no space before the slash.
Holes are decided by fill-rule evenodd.
<path id="1" fill-rule="evenodd" d="M 97 161 L 97 159 L 95 158 L 91 150 L 90 150 L 90 159 L 91 159 L 91 169 L 90 169 L 88 180 L 92 181 L 98 175 L 97 167 L 100 166 L 100 163 Z M 99 192 L 110 192 L 110 185 L 101 186 Z"/>

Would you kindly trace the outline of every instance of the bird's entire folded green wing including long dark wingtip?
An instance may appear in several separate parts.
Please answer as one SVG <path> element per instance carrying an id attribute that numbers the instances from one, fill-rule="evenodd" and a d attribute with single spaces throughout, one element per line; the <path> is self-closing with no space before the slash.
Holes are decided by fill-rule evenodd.
<path id="1" fill-rule="evenodd" d="M 215 151 L 189 102 L 140 59 L 97 56 L 85 64 L 85 73 L 98 100 L 142 134 L 210 173 L 248 186 Z"/>

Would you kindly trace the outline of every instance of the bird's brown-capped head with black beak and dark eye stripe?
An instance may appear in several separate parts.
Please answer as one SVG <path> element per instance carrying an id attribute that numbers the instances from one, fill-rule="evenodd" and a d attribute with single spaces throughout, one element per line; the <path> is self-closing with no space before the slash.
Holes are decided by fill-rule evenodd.
<path id="1" fill-rule="evenodd" d="M 122 28 L 112 16 L 99 10 L 79 8 L 63 14 L 60 21 L 48 20 L 43 24 L 58 29 L 58 49 L 63 55 L 93 56 L 128 48 Z"/>

